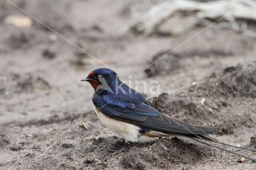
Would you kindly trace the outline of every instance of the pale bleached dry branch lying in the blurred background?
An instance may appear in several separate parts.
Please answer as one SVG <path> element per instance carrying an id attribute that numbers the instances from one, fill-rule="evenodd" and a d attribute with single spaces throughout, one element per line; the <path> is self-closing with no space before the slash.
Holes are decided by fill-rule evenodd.
<path id="1" fill-rule="evenodd" d="M 143 13 L 136 11 L 133 6 L 131 11 L 138 18 L 133 29 L 138 32 L 152 34 L 157 26 L 177 12 L 193 12 L 197 18 L 215 21 L 224 16 L 223 20 L 229 23 L 235 23 L 238 19 L 256 21 L 256 0 L 250 0 L 245 4 L 244 2 L 246 0 L 218 0 L 212 2 L 166 0 L 151 6 Z"/>

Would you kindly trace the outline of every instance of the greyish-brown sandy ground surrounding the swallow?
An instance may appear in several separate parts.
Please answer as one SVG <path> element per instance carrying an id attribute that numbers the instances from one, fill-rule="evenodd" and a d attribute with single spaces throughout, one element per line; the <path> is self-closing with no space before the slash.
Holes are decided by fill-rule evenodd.
<path id="1" fill-rule="evenodd" d="M 137 0 L 12 2 L 108 65 L 131 87 L 145 81 L 146 91 L 142 84 L 138 91 L 168 115 L 217 128 L 220 131 L 211 137 L 221 142 L 256 147 L 255 39 L 208 28 L 142 71 L 205 27 L 195 24 L 176 36 L 134 33 L 129 30 L 136 22 L 130 6 L 144 5 Z M 93 113 L 94 90 L 80 82 L 90 71 L 106 66 L 35 20 L 27 28 L 6 24 L 4 19 L 11 15 L 26 16 L 1 1 L 1 169 L 256 168 L 250 160 L 240 162 L 239 156 L 178 138 L 142 137 L 127 146 L 128 152 L 112 156 L 108 149 L 121 148 L 124 140 L 95 114 L 84 119 Z M 253 23 L 249 27 L 256 31 Z M 154 80 L 160 83 L 158 94 L 149 93 Z M 88 130 L 79 126 L 82 119 Z M 225 148 L 256 158 L 255 152 Z"/>

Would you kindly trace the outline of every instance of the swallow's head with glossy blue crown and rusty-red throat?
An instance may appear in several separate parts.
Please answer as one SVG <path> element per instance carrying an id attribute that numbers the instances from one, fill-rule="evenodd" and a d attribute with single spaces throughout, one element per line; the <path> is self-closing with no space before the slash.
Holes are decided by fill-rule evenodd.
<path id="1" fill-rule="evenodd" d="M 113 87 L 117 81 L 119 80 L 116 72 L 107 68 L 99 68 L 90 72 L 88 76 L 81 81 L 88 81 L 94 90 L 105 89 L 111 90 L 110 87 Z"/>

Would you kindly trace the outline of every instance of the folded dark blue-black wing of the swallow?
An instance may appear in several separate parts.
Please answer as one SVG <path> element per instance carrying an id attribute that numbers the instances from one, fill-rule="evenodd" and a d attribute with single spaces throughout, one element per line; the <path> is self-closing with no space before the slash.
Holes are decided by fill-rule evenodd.
<path id="1" fill-rule="evenodd" d="M 214 134 L 217 131 L 214 128 L 190 125 L 178 119 L 169 117 L 148 101 L 134 104 L 123 99 L 118 99 L 118 101 L 112 103 L 114 103 L 114 105 L 109 103 L 102 108 L 97 106 L 97 103 L 94 103 L 94 105 L 96 105 L 101 113 L 112 119 L 160 132 L 204 135 Z"/>

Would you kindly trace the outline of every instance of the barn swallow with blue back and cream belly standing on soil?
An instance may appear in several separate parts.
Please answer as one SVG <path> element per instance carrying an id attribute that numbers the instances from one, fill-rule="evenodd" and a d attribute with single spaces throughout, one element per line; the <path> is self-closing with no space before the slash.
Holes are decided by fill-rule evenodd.
<path id="1" fill-rule="evenodd" d="M 214 128 L 190 125 L 168 116 L 158 107 L 147 101 L 140 93 L 122 83 L 116 72 L 111 69 L 95 69 L 81 81 L 88 81 L 95 90 L 92 102 L 100 121 L 107 128 L 125 138 L 123 148 L 112 150 L 114 154 L 125 151 L 125 146 L 128 142 L 138 142 L 138 136 L 145 135 L 149 137 L 176 136 L 242 156 L 204 142 L 206 140 L 232 146 L 204 136 L 216 133 L 218 130 Z M 238 146 L 233 147 L 241 148 Z M 248 158 L 246 156 L 242 157 Z M 255 161 L 251 158 L 248 159 Z"/>

